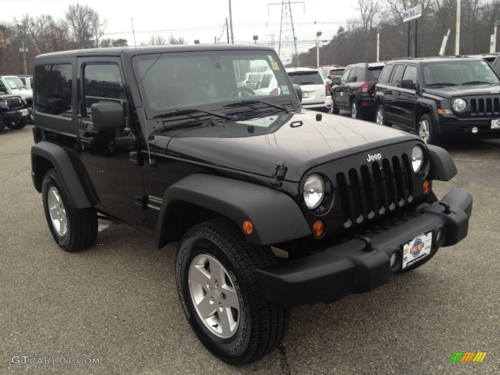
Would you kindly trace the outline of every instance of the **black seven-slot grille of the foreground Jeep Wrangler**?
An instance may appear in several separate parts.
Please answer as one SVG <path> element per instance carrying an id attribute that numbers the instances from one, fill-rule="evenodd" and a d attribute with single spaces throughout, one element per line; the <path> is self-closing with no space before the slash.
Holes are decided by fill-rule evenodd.
<path id="1" fill-rule="evenodd" d="M 335 176 L 343 226 L 383 215 L 413 200 L 408 156 L 373 161 Z"/>

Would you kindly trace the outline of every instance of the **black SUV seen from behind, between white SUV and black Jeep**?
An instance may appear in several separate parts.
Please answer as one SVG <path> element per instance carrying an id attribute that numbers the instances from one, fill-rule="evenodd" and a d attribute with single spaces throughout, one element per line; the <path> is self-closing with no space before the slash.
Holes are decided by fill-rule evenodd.
<path id="1" fill-rule="evenodd" d="M 348 65 L 338 85 L 331 87 L 332 113 L 338 114 L 339 109 L 347 109 L 352 118 L 373 117 L 375 83 L 383 64 L 372 62 Z"/>

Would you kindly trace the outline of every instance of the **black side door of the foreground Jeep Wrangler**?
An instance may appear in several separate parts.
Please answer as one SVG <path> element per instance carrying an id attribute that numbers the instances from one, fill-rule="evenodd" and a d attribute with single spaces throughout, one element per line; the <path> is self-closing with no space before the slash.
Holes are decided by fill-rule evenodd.
<path id="1" fill-rule="evenodd" d="M 138 136 L 135 122 L 127 118 L 124 128 L 106 131 L 95 131 L 92 125 L 93 103 L 118 102 L 127 112 L 128 101 L 119 58 L 103 57 L 99 62 L 95 62 L 95 57 L 80 58 L 78 73 L 81 155 L 99 203 L 112 215 L 144 220 L 142 168 L 130 161 L 132 149 L 119 146 L 115 141 L 116 137 L 129 134 Z"/>

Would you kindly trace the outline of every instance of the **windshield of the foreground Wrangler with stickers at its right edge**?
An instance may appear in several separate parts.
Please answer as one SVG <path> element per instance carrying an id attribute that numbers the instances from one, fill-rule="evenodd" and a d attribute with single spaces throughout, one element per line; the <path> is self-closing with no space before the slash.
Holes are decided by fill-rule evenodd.
<path id="1" fill-rule="evenodd" d="M 204 104 L 222 107 L 243 97 L 290 99 L 293 93 L 286 73 L 277 62 L 278 57 L 272 52 L 217 50 L 143 54 L 132 58 L 136 77 L 139 76 L 137 60 L 143 100 L 150 117 Z M 268 84 L 245 87 L 246 72 L 264 70 Z"/>

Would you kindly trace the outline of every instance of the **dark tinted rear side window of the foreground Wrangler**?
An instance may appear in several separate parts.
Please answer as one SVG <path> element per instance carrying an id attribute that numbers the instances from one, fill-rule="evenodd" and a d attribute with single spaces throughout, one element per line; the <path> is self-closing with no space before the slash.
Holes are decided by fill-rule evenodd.
<path id="1" fill-rule="evenodd" d="M 72 117 L 71 64 L 36 67 L 36 111 Z"/>

